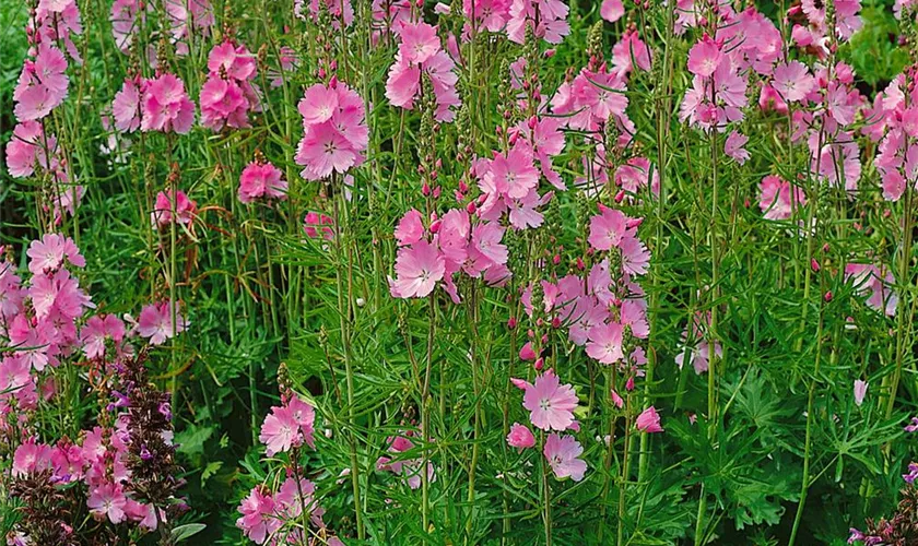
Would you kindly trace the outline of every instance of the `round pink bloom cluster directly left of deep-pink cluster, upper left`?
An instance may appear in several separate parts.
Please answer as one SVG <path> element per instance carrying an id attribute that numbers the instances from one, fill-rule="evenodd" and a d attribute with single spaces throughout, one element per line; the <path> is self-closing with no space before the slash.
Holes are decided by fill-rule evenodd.
<path id="1" fill-rule="evenodd" d="M 151 80 L 143 94 L 140 130 L 185 134 L 193 123 L 195 103 L 185 93 L 185 83 L 174 74 Z"/>

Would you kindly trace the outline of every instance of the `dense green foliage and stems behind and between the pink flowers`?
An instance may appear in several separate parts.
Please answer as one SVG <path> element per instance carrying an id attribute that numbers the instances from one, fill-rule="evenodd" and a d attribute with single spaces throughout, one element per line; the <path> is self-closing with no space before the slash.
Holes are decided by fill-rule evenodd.
<path id="1" fill-rule="evenodd" d="M 307 5 L 304 16 L 294 16 L 301 7 L 293 0 L 212 0 L 213 24 L 191 25 L 180 40 L 164 32 L 166 2 L 151 0 L 146 25 L 122 51 L 113 37 L 111 2 L 76 0 L 82 33 L 72 38 L 83 62 L 70 62 L 68 97 L 46 119 L 85 195 L 55 224 L 43 209 L 46 178 L 0 173 L 0 245 L 24 272 L 34 239 L 51 229 L 71 237 L 85 257 L 74 274 L 97 306 L 93 312 L 137 317 L 150 304 L 180 301 L 187 330 L 150 347 L 146 368 L 173 393 L 186 480 L 180 494 L 189 507 L 176 524 L 207 525 L 189 543 L 248 543 L 236 523 L 240 501 L 261 484 L 276 488 L 292 466 L 315 483 L 325 510 L 329 533 L 309 535 L 316 544 L 334 535 L 345 544 L 774 545 L 792 534 L 796 544 L 845 544 L 850 527 L 893 513 L 916 455 L 915 437 L 903 429 L 918 413 L 915 188 L 911 180 L 901 200 L 884 199 L 874 165 L 879 139 L 861 132 L 874 97 L 918 61 L 915 23 L 894 15 L 893 0 L 862 0 L 862 27 L 849 40 L 831 38 L 827 55 L 795 47 L 799 3 L 720 2 L 720 10 L 761 11 L 782 36 L 781 55 L 812 73 L 836 62 L 851 67 L 849 88 L 866 100 L 849 123 L 861 168 L 847 190 L 813 173 L 807 142 L 790 138 L 789 115 L 760 107 L 768 75 L 750 71 L 744 116 L 725 132 L 680 118 L 693 85 L 688 52 L 709 28 L 698 24 L 675 35 L 678 14 L 664 2 L 627 0 L 625 15 L 610 23 L 600 2 L 568 0 L 569 34 L 556 45 L 532 36 L 518 44 L 501 29 L 463 38 L 461 1 L 449 13 L 432 1 L 405 8 L 415 21 L 438 25 L 444 49 L 461 56 L 455 71 L 462 106 L 454 108 L 455 121 L 442 123 L 429 97 L 411 110 L 387 98 L 399 40 L 390 22 L 374 16 L 379 1 L 350 2 L 354 21 L 342 24 L 325 2 L 313 2 L 321 4 L 315 14 Z M 31 55 L 24 31 L 31 3 L 0 0 L 3 143 L 17 123 L 13 92 Z M 658 194 L 644 187 L 623 200 L 614 183 L 591 186 L 585 161 L 598 161 L 597 142 L 590 131 L 565 128 L 566 145 L 553 159 L 567 190 L 540 204 L 541 227 L 506 230 L 514 274 L 505 286 L 460 274 L 461 302 L 442 284 L 429 296 L 392 297 L 387 277 L 398 276 L 400 246 L 393 232 L 404 214 L 422 211 L 427 229 L 432 212 L 442 216 L 476 202 L 472 159 L 506 151 L 507 129 L 536 114 L 517 104 L 518 94 L 533 104 L 532 95 L 514 86 L 510 66 L 526 58 L 532 86 L 551 99 L 591 62 L 611 63 L 626 32 L 652 48 L 652 66 L 634 69 L 626 86 L 602 88 L 627 97 L 634 136 L 614 152 L 610 145 L 607 165 L 597 168 L 612 178 L 627 161 L 647 158 L 645 186 L 659 177 Z M 250 112 L 249 127 L 197 122 L 180 135 L 113 128 L 107 116 L 126 76 L 152 78 L 154 61 L 181 78 L 198 103 L 209 54 L 226 39 L 257 60 L 252 82 L 262 111 Z M 295 58 L 295 66 L 282 70 L 282 57 Z M 839 78 L 834 70 L 828 83 Z M 366 162 L 348 170 L 348 186 L 340 174 L 306 180 L 295 161 L 304 130 L 297 103 L 332 75 L 367 106 Z M 429 91 L 422 85 L 422 94 Z M 539 116 L 551 118 L 550 108 L 542 105 Z M 733 130 L 749 138 L 742 164 L 723 154 Z M 283 173 L 287 199 L 239 201 L 240 174 L 258 154 Z M 760 185 L 770 175 L 799 187 L 809 204 L 792 217 L 766 217 Z M 552 189 L 544 177 L 540 185 Z M 166 188 L 187 193 L 197 213 L 188 224 L 151 228 L 155 195 Z M 584 274 L 578 260 L 589 269 L 598 202 L 643 218 L 638 233 L 652 256 L 640 278 L 649 322 L 640 373 L 590 358 L 566 331 L 557 333 L 551 312 L 540 314 L 537 305 L 533 314 L 521 297 L 542 281 Z M 318 234 L 304 230 L 304 218 L 317 223 L 307 213 L 318 213 Z M 799 228 L 801 218 L 815 218 L 816 227 Z M 895 272 L 883 288 L 897 295 L 894 313 L 868 302 L 863 278 L 846 274 L 852 263 Z M 530 295 L 537 304 L 545 297 L 540 290 Z M 716 328 L 703 318 L 711 311 Z M 520 349 L 542 334 L 537 369 Z M 721 348 L 710 373 L 687 364 L 703 339 Z M 683 359 L 686 366 L 679 366 Z M 85 369 L 79 360 L 54 373 Z M 510 378 L 534 381 L 546 368 L 576 385 L 582 480 L 544 471 L 539 446 L 517 450 L 506 441 L 514 423 L 529 424 Z M 280 382 L 316 408 L 315 449 L 268 456 L 259 434 L 281 405 L 279 369 Z M 628 379 L 636 381 L 633 390 L 625 388 Z M 869 383 L 862 401 L 856 380 Z M 63 384 L 70 391 L 30 414 L 40 425 L 4 431 L 5 494 L 13 454 L 28 434 L 48 443 L 76 440 L 95 425 L 105 400 L 79 381 Z M 624 407 L 610 390 L 625 397 Z M 661 417 L 660 434 L 635 428 L 650 406 Z M 419 432 L 425 422 L 429 442 Z M 397 456 L 392 439 L 407 435 L 415 446 L 403 456 L 433 467 L 423 487 L 377 464 Z M 2 532 L 10 536 L 23 513 L 15 497 L 2 502 Z M 91 520 L 78 514 L 71 525 L 90 529 Z M 116 534 L 158 538 L 123 525 Z"/>

